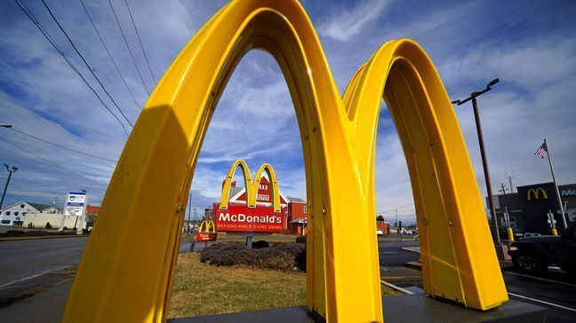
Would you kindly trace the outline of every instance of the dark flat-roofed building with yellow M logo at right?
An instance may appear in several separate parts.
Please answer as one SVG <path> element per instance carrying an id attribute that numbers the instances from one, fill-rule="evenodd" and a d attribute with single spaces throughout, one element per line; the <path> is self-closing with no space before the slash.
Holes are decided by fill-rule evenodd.
<path id="1" fill-rule="evenodd" d="M 576 184 L 558 185 L 564 206 L 566 223 L 576 218 Z M 561 212 L 554 183 L 517 186 L 516 193 L 494 195 L 494 208 L 498 225 L 506 227 L 504 213 L 508 210 L 510 225 L 522 232 L 550 234 L 548 212 L 554 215 L 556 230 L 564 232 Z"/>

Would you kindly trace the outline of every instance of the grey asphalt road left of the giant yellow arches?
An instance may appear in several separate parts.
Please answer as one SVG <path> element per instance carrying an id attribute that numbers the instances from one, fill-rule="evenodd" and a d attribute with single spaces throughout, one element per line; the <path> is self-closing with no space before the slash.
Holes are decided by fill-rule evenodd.
<path id="1" fill-rule="evenodd" d="M 78 264 L 87 237 L 0 241 L 0 285 Z"/>

